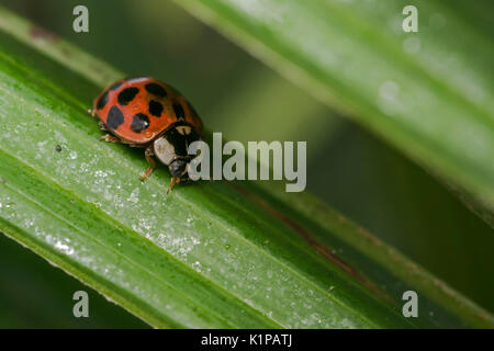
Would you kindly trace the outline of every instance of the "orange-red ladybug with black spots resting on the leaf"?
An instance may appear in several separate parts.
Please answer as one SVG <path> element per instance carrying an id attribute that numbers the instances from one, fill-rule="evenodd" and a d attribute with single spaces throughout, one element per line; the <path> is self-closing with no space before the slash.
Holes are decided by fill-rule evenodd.
<path id="1" fill-rule="evenodd" d="M 192 105 L 172 87 L 150 77 L 127 78 L 104 89 L 93 101 L 91 111 L 108 131 L 100 140 L 145 148 L 149 168 L 144 181 L 156 167 L 153 157 L 168 166 L 170 186 L 188 180 L 189 145 L 200 140 L 202 122 Z"/>

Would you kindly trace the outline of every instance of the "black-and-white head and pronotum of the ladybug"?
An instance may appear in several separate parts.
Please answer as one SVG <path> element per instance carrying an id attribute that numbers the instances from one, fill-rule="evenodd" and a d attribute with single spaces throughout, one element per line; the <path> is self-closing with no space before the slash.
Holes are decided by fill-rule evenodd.
<path id="1" fill-rule="evenodd" d="M 188 178 L 188 165 L 192 160 L 189 146 L 199 140 L 195 129 L 184 123 L 177 122 L 155 139 L 153 147 L 156 157 L 168 166 L 171 177 L 180 180 Z"/>

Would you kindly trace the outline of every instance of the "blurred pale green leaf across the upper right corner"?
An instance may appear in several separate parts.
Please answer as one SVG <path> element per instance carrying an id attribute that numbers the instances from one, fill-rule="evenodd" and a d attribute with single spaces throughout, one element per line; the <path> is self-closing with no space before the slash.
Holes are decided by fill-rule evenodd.
<path id="1" fill-rule="evenodd" d="M 479 16 L 492 3 L 415 1 L 419 32 L 405 33 L 408 2 L 177 1 L 445 180 L 494 226 L 494 45 Z"/>

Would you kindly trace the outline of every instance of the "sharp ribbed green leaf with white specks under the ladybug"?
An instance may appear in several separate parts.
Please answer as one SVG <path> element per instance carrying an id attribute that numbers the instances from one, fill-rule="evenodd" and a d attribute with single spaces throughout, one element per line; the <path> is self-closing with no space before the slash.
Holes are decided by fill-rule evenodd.
<path id="1" fill-rule="evenodd" d="M 123 75 L 40 33 L 0 9 L 2 233 L 154 327 L 494 326 L 311 195 L 197 182 L 166 196 L 162 168 L 141 182 L 142 150 L 98 141 L 87 112 Z M 407 290 L 419 318 L 402 315 Z"/>

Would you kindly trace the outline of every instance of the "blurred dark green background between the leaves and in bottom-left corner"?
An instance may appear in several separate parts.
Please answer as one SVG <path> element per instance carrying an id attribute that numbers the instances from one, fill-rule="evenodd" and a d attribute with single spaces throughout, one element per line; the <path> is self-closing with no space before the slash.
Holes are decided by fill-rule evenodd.
<path id="1" fill-rule="evenodd" d="M 415 163 L 175 2 L 0 0 L 0 4 L 131 76 L 155 76 L 177 87 L 207 128 L 228 139 L 307 140 L 310 192 L 494 312 L 494 236 L 487 225 Z M 89 8 L 89 33 L 72 31 L 77 4 Z M 145 327 L 3 236 L 0 272 L 0 327 Z M 71 315 L 77 290 L 90 293 L 89 319 Z"/>

